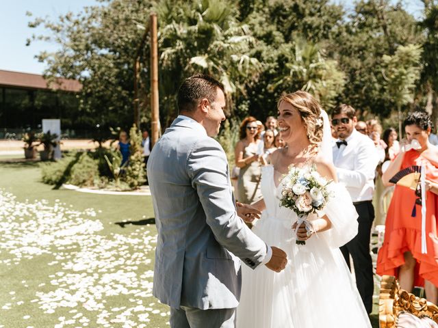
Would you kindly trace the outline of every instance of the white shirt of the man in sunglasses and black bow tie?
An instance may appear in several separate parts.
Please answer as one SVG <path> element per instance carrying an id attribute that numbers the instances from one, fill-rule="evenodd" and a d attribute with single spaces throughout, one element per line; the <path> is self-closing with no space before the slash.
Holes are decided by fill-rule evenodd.
<path id="1" fill-rule="evenodd" d="M 340 141 L 338 139 L 338 141 Z M 353 202 L 372 200 L 374 174 L 378 156 L 374 142 L 353 129 L 346 139 L 347 146 L 333 145 L 333 164 L 339 182 L 345 184 Z"/>

